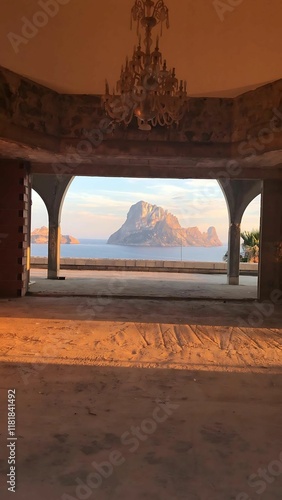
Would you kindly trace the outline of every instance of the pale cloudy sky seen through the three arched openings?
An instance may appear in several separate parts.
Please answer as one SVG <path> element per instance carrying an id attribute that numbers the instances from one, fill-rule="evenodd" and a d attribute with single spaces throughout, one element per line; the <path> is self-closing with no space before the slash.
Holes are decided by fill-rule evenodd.
<path id="1" fill-rule="evenodd" d="M 43 201 L 33 191 L 32 230 L 48 226 Z M 222 243 L 228 241 L 228 211 L 215 180 L 123 179 L 76 177 L 66 194 L 61 218 L 62 234 L 75 238 L 107 239 L 125 222 L 138 201 L 158 205 L 175 215 L 182 227 L 214 226 Z M 242 230 L 259 228 L 260 196 L 247 208 Z"/>

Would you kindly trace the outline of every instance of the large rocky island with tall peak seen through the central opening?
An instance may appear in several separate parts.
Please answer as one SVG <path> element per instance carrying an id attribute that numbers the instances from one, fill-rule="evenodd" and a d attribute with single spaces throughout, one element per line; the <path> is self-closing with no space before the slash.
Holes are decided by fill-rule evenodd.
<path id="1" fill-rule="evenodd" d="M 158 247 L 222 246 L 214 227 L 210 227 L 206 233 L 202 233 L 197 227 L 183 228 L 177 217 L 145 201 L 132 205 L 125 223 L 110 236 L 108 244 Z"/>

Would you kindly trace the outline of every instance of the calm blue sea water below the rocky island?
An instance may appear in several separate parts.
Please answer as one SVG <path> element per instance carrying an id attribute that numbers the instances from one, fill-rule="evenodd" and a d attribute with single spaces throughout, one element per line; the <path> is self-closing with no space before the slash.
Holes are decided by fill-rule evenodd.
<path id="1" fill-rule="evenodd" d="M 126 247 L 107 245 L 106 240 L 81 239 L 80 245 L 61 245 L 61 257 L 81 259 L 146 259 L 222 262 L 222 247 Z M 47 257 L 47 245 L 31 245 L 32 257 Z"/>

